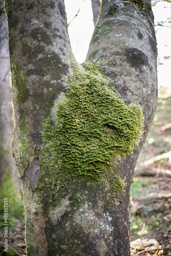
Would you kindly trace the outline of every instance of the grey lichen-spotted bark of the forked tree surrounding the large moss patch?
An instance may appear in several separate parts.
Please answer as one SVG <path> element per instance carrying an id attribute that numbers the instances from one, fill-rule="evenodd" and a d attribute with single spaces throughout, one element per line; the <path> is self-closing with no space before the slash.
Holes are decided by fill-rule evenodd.
<path id="1" fill-rule="evenodd" d="M 62 100 L 67 78 L 79 65 L 71 52 L 64 2 L 48 3 L 6 1 L 15 114 L 13 147 L 24 190 L 27 253 L 127 256 L 133 173 L 157 104 L 157 50 L 151 4 L 142 2 L 142 8 L 127 1 L 102 1 L 86 60 L 98 62 L 125 104 L 133 102 L 143 110 L 144 133 L 139 146 L 133 154 L 120 158 L 115 168 L 126 186 L 114 196 L 109 182 L 108 188 L 96 186 L 96 190 L 91 182 L 73 184 L 77 189 L 75 197 L 63 196 L 58 205 L 48 201 L 48 195 L 41 196 L 40 189 L 39 194 L 36 191 L 41 171 L 42 122 L 48 115 L 54 122 L 54 103 Z M 34 154 L 21 154 L 23 140 Z"/>

